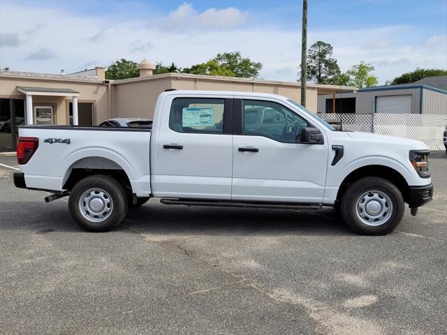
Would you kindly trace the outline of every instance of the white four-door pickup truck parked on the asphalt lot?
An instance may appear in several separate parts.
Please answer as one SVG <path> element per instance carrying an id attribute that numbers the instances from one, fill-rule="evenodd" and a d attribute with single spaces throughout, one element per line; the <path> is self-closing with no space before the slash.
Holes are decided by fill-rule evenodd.
<path id="1" fill-rule="evenodd" d="M 82 228 L 108 231 L 128 207 L 163 204 L 338 209 L 386 234 L 432 199 L 422 142 L 335 131 L 273 94 L 166 91 L 152 129 L 21 126 L 15 186 L 69 195 Z"/>

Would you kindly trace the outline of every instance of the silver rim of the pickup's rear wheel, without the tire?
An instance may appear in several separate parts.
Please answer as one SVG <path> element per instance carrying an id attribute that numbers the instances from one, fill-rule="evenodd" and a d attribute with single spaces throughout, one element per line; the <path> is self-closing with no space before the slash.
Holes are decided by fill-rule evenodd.
<path id="1" fill-rule="evenodd" d="M 90 188 L 79 199 L 79 210 L 88 221 L 105 221 L 113 210 L 112 198 L 101 188 Z"/>

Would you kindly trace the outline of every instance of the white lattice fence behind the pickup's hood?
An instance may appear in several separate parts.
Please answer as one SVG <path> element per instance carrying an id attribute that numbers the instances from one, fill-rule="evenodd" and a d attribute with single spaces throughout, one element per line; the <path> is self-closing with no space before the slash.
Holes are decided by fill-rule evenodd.
<path id="1" fill-rule="evenodd" d="M 419 140 L 430 150 L 444 150 L 447 115 L 439 114 L 318 114 L 325 121 L 341 121 L 344 131 L 363 131 Z"/>

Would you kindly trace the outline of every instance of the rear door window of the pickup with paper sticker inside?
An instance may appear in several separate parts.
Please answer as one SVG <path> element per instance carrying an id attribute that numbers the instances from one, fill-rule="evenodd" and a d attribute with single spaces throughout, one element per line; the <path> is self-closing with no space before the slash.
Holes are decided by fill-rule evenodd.
<path id="1" fill-rule="evenodd" d="M 223 133 L 225 99 L 175 98 L 169 128 L 177 133 Z"/>

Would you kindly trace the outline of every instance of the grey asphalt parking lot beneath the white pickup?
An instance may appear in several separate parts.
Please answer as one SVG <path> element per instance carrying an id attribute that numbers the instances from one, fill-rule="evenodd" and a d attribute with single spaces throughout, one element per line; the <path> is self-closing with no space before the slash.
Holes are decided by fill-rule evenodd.
<path id="1" fill-rule="evenodd" d="M 364 237 L 332 209 L 157 200 L 88 233 L 0 165 L 0 333 L 446 334 L 444 152 L 430 168 L 434 200 Z"/>

